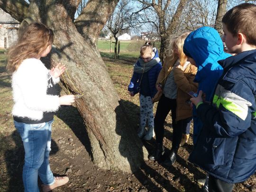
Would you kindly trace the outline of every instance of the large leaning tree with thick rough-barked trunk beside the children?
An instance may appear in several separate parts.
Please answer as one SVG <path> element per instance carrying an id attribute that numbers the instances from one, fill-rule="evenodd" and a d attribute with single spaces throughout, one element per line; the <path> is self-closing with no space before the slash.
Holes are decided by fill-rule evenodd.
<path id="1" fill-rule="evenodd" d="M 86 126 L 92 159 L 105 169 L 135 170 L 144 159 L 142 143 L 128 126 L 125 111 L 95 42 L 119 0 L 89 0 L 73 22 L 80 0 L 0 0 L 0 8 L 21 23 L 42 22 L 55 33 L 49 59 L 66 65 L 64 74 L 83 92 L 75 104 Z M 72 84 L 73 82 L 73 84 Z M 131 131 L 132 130 L 132 131 Z"/>

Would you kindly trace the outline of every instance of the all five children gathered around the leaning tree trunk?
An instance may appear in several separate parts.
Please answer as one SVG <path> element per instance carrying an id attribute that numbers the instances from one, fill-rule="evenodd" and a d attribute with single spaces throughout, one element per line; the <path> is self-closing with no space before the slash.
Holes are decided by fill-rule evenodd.
<path id="1" fill-rule="evenodd" d="M 165 165 L 172 165 L 182 142 L 186 142 L 193 117 L 194 149 L 189 160 L 209 174 L 210 192 L 231 192 L 234 183 L 256 171 L 256 5 L 244 3 L 230 9 L 222 19 L 229 53 L 219 33 L 201 27 L 183 33 L 171 44 L 164 66 L 151 45 L 143 45 L 128 90 L 139 92 L 138 136 L 156 136 L 151 160 L 160 160 L 164 122 L 172 112 L 173 146 Z M 40 61 L 51 51 L 53 31 L 41 23 L 29 25 L 9 50 L 7 69 L 13 73 L 14 125 L 25 149 L 25 192 L 43 192 L 68 182 L 54 177 L 49 166 L 51 125 L 60 105 L 71 105 L 74 95 L 59 97 L 55 84 L 65 67 L 48 70 Z M 193 93 L 197 92 L 197 94 Z M 159 101 L 155 118 L 153 103 Z M 190 107 L 193 103 L 193 109 Z M 193 111 L 192 111 L 193 110 Z M 146 119 L 148 129 L 146 130 Z"/>

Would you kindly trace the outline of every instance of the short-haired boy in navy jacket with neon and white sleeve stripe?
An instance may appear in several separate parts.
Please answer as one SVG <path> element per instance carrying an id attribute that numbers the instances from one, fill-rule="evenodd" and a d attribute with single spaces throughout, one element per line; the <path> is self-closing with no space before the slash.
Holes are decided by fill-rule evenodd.
<path id="1" fill-rule="evenodd" d="M 224 72 L 211 105 L 203 103 L 202 91 L 191 99 L 204 126 L 189 160 L 209 173 L 210 192 L 231 192 L 235 183 L 245 181 L 256 171 L 256 22 L 253 18 L 256 18 L 256 5 L 250 3 L 231 8 L 224 15 L 223 40 L 228 51 L 237 55 L 219 61 Z"/>

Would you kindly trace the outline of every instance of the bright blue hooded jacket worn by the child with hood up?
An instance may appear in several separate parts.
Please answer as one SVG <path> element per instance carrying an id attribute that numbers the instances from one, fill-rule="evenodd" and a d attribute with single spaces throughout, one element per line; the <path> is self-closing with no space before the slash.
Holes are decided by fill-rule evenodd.
<path id="1" fill-rule="evenodd" d="M 219 33 L 212 27 L 201 27 L 190 33 L 185 39 L 183 51 L 195 60 L 198 69 L 194 82 L 198 83 L 198 91 L 202 90 L 206 94 L 205 100 L 210 102 L 223 72 L 218 60 L 231 55 L 224 52 Z M 197 117 L 195 107 L 193 108 L 193 123 L 193 142 L 195 144 L 203 126 Z"/>

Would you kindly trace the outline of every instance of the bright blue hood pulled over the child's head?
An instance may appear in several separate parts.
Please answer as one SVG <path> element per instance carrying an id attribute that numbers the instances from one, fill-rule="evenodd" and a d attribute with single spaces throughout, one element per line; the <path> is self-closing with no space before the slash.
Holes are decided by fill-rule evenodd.
<path id="1" fill-rule="evenodd" d="M 212 27 L 201 27 L 190 33 L 185 39 L 183 46 L 184 53 L 193 58 L 198 67 L 195 77 L 196 82 L 200 82 L 201 78 L 208 76 L 204 71 L 214 71 L 221 69 L 218 60 L 230 57 L 223 50 L 223 42 L 219 33 Z M 203 68 L 205 68 L 202 70 Z M 202 71 L 201 71 L 202 70 Z"/>

